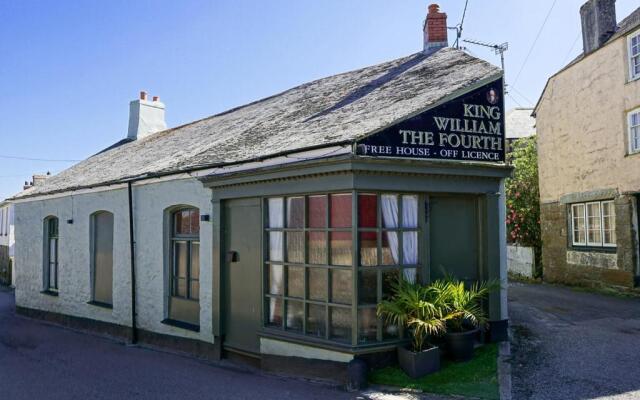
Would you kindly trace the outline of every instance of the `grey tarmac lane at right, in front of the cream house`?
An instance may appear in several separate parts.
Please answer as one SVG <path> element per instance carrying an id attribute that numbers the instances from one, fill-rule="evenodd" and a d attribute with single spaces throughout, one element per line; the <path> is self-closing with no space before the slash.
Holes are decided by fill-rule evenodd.
<path id="1" fill-rule="evenodd" d="M 514 399 L 640 399 L 640 300 L 511 284 Z"/>

